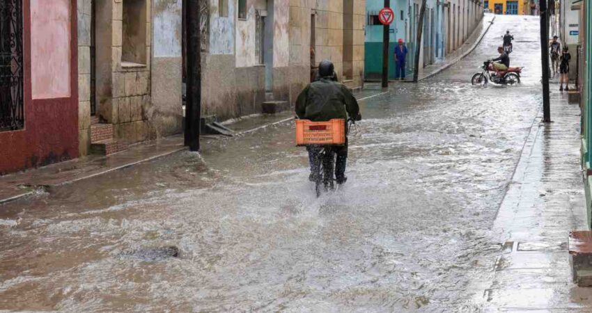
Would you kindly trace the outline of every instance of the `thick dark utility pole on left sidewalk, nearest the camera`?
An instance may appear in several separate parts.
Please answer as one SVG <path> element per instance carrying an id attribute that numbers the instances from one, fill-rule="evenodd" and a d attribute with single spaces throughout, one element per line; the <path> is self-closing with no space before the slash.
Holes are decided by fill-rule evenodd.
<path id="1" fill-rule="evenodd" d="M 185 107 L 185 145 L 199 151 L 201 119 L 201 4 L 202 0 L 186 0 L 187 10 L 187 105 Z"/>

